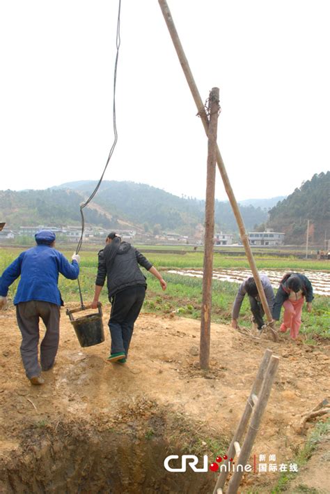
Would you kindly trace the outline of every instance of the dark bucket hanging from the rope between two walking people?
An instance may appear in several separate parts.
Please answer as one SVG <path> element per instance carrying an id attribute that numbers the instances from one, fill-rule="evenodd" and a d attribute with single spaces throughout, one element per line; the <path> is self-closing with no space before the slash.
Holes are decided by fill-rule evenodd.
<path id="1" fill-rule="evenodd" d="M 75 320 L 72 316 L 72 313 L 80 312 L 81 310 L 86 310 L 89 308 L 91 308 L 91 306 L 66 311 L 70 317 L 70 322 L 74 327 L 74 331 L 77 334 L 81 347 L 92 347 L 93 345 L 99 345 L 99 343 L 104 341 L 102 308 L 100 303 L 97 306 L 98 313 L 96 314 L 88 314 L 84 317 L 78 317 Z"/>

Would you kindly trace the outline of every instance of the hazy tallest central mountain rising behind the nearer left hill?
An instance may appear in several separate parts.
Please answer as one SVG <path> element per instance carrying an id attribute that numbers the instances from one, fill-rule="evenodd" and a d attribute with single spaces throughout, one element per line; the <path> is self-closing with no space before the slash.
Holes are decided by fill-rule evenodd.
<path id="1" fill-rule="evenodd" d="M 59 188 L 79 190 L 89 195 L 96 181 L 70 182 Z M 193 234 L 196 226 L 204 223 L 205 202 L 192 197 L 178 197 L 165 190 L 135 184 L 129 181 L 104 181 L 94 201 L 115 218 L 125 218 L 136 225 L 155 225 L 162 231 Z M 266 210 L 252 206 L 241 207 L 246 228 L 267 220 Z M 235 216 L 229 202 L 216 201 L 215 222 L 217 230 L 237 232 Z"/>

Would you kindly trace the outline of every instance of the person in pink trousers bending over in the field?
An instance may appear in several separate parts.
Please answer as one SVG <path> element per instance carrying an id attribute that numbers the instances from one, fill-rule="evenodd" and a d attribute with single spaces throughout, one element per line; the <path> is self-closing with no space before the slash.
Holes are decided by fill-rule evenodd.
<path id="1" fill-rule="evenodd" d="M 307 276 L 300 273 L 285 274 L 276 293 L 273 319 L 279 320 L 283 306 L 283 323 L 280 331 L 285 333 L 290 329 L 292 340 L 295 340 L 299 334 L 304 301 L 307 302 L 308 312 L 311 312 L 313 298 L 313 287 Z"/>

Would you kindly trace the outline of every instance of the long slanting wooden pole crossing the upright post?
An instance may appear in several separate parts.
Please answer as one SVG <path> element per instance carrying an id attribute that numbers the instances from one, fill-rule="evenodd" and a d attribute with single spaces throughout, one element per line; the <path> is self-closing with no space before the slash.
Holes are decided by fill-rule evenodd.
<path id="1" fill-rule="evenodd" d="M 198 92 L 198 89 L 197 89 L 197 86 L 196 86 L 196 82 L 195 82 L 194 77 L 193 77 L 193 75 L 191 73 L 191 70 L 190 70 L 190 67 L 189 67 L 189 63 L 188 63 L 187 57 L 184 54 L 184 50 L 183 50 L 183 47 L 181 45 L 180 38 L 178 36 L 178 32 L 175 29 L 175 24 L 173 22 L 173 18 L 172 18 L 170 9 L 168 8 L 168 4 L 167 4 L 167 1 L 166 0 L 158 0 L 158 3 L 159 3 L 160 8 L 162 9 L 162 13 L 164 15 L 164 19 L 165 19 L 166 25 L 168 27 L 168 31 L 169 31 L 169 33 L 171 35 L 171 38 L 172 38 L 172 41 L 173 41 L 173 45 L 175 47 L 175 50 L 176 50 L 176 52 L 178 54 L 178 58 L 179 58 L 180 64 L 182 66 L 182 70 L 184 72 L 184 75 L 185 75 L 185 77 L 187 79 L 187 82 L 188 82 L 189 88 L 191 90 L 192 96 L 194 98 L 194 101 L 195 101 L 195 104 L 196 104 L 196 107 L 197 107 L 197 110 L 198 110 L 198 115 L 201 117 L 201 121 L 203 123 L 204 129 L 205 129 L 205 133 L 207 135 L 208 134 L 208 129 L 209 129 L 209 122 L 208 122 L 208 119 L 207 119 L 207 114 L 205 112 L 205 108 L 204 108 L 204 105 L 203 105 L 203 101 L 201 100 L 201 96 L 200 96 L 200 94 Z M 258 269 L 256 267 L 256 262 L 255 262 L 255 260 L 253 258 L 251 246 L 249 244 L 249 238 L 248 238 L 248 236 L 246 234 L 246 230 L 245 230 L 245 227 L 244 227 L 243 218 L 242 218 L 242 215 L 241 215 L 241 213 L 239 211 L 239 207 L 238 207 L 237 201 L 235 199 L 235 195 L 233 193 L 233 189 L 231 188 L 230 181 L 228 179 L 228 175 L 227 175 L 227 172 L 226 172 L 226 167 L 225 167 L 225 165 L 223 163 L 223 160 L 222 160 L 222 157 L 221 157 L 221 154 L 220 154 L 220 151 L 219 151 L 219 147 L 218 146 L 217 146 L 216 156 L 217 156 L 217 164 L 218 164 L 218 167 L 219 167 L 219 171 L 220 171 L 220 174 L 221 174 L 223 185 L 224 185 L 224 187 L 226 189 L 226 193 L 228 195 L 229 202 L 231 204 L 231 207 L 233 208 L 233 211 L 234 211 L 234 214 L 235 214 L 235 218 L 236 218 L 236 221 L 237 221 L 237 225 L 239 227 L 239 235 L 240 235 L 240 237 L 242 239 L 242 244 L 243 244 L 244 249 L 245 249 L 246 257 L 248 258 L 249 265 L 250 265 L 250 268 L 251 268 L 251 271 L 252 271 L 252 274 L 253 274 L 253 278 L 256 281 L 256 285 L 257 285 L 257 288 L 258 288 L 258 294 L 259 294 L 259 297 L 260 297 L 260 301 L 262 303 L 263 309 L 265 310 L 265 315 L 267 317 L 267 320 L 270 323 L 273 320 L 272 313 L 270 312 L 269 307 L 268 307 L 268 304 L 267 304 L 267 299 L 266 299 L 266 296 L 265 296 L 265 292 L 264 292 L 264 289 L 263 289 L 262 284 L 261 284 L 261 281 L 260 281 L 260 276 L 258 274 Z"/>

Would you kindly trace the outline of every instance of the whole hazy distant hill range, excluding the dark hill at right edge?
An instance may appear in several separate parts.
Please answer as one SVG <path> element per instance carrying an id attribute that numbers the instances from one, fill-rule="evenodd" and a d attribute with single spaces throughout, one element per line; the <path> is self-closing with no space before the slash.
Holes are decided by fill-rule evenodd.
<path id="1" fill-rule="evenodd" d="M 74 181 L 46 190 L 0 191 L 1 218 L 8 227 L 79 225 L 79 204 L 96 181 Z M 247 230 L 267 220 L 267 211 L 241 206 Z M 145 232 L 201 234 L 205 202 L 178 197 L 165 190 L 129 181 L 104 181 L 93 202 L 84 209 L 86 223 L 104 228 Z M 215 203 L 216 230 L 237 232 L 229 202 Z M 199 233 L 198 233 L 199 232 Z"/>

